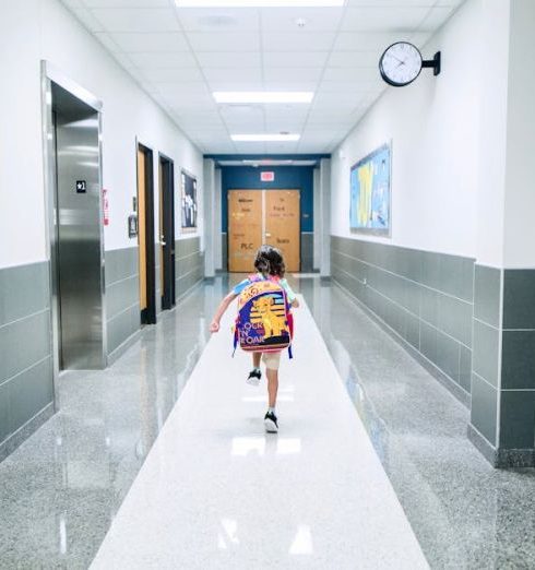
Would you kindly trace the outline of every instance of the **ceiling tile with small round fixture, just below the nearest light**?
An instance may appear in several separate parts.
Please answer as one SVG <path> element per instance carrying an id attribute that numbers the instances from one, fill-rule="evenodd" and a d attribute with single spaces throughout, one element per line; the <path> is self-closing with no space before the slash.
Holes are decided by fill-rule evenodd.
<path id="1" fill-rule="evenodd" d="M 343 8 L 270 8 L 261 10 L 262 32 L 333 32 Z M 298 25 L 299 23 L 299 25 Z"/>

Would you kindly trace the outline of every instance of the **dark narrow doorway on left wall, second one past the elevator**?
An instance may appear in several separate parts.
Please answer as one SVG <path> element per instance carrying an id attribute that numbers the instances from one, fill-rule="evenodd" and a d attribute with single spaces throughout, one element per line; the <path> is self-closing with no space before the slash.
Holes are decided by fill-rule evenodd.
<path id="1" fill-rule="evenodd" d="M 162 170 L 159 170 L 162 169 Z M 162 177 L 159 173 L 162 171 Z M 176 299 L 176 257 L 175 257 L 175 163 L 163 153 L 158 154 L 160 227 L 159 242 L 163 249 L 162 309 L 175 307 Z M 165 244 L 165 245 L 163 245 Z"/>

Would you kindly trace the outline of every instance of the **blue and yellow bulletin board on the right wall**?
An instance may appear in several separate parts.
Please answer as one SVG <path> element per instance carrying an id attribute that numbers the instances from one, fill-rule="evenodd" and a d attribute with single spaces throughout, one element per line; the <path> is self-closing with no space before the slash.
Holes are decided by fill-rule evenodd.
<path id="1" fill-rule="evenodd" d="M 352 230 L 390 236 L 390 144 L 380 146 L 352 166 Z"/>

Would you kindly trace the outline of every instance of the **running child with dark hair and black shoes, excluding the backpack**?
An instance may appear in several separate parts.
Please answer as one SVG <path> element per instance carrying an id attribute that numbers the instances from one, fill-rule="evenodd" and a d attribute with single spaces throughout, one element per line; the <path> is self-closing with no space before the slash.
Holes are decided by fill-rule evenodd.
<path id="1" fill-rule="evenodd" d="M 255 278 L 258 280 L 272 280 L 286 292 L 286 297 L 292 307 L 299 307 L 299 301 L 296 298 L 295 293 L 288 285 L 288 282 L 284 277 L 285 264 L 282 252 L 272 246 L 262 246 L 257 251 L 254 260 L 254 269 L 257 270 Z M 215 333 L 219 330 L 219 321 L 228 306 L 238 297 L 238 295 L 251 283 L 250 277 L 238 283 L 236 287 L 222 300 L 217 308 L 212 323 L 210 325 L 210 332 Z M 265 429 L 269 432 L 276 434 L 278 431 L 278 420 L 275 413 L 276 397 L 278 391 L 278 366 L 281 363 L 281 352 L 277 353 L 261 353 L 255 352 L 252 354 L 252 370 L 249 373 L 247 382 L 252 385 L 258 385 L 262 378 L 262 371 L 260 370 L 260 361 L 263 359 L 265 365 L 265 376 L 268 377 L 268 397 L 269 407 L 264 416 Z"/>

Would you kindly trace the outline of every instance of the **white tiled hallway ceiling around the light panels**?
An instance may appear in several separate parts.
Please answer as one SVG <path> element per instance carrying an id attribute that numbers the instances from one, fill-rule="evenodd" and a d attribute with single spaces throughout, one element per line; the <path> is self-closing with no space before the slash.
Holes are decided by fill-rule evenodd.
<path id="1" fill-rule="evenodd" d="M 385 87 L 378 72 L 382 51 L 401 39 L 424 46 L 463 1 L 177 9 L 174 0 L 62 0 L 210 154 L 331 152 Z M 313 91 L 316 96 L 310 105 L 217 105 L 213 91 Z M 236 143 L 229 136 L 281 131 L 301 139 Z"/>

